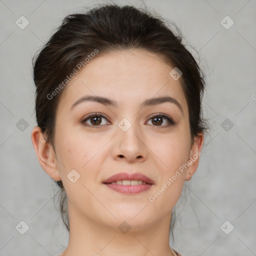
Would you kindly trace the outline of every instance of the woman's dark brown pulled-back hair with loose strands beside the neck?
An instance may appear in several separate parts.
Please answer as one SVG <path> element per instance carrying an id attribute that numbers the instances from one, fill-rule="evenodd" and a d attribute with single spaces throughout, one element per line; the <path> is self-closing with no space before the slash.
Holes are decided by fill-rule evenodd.
<path id="1" fill-rule="evenodd" d="M 63 80 L 95 48 L 99 52 L 97 56 L 109 50 L 141 48 L 157 53 L 170 66 L 177 67 L 182 71 L 180 83 L 188 104 L 191 141 L 193 142 L 194 136 L 199 132 L 207 129 L 207 122 L 203 119 L 201 110 L 204 74 L 182 43 L 181 32 L 175 23 L 172 24 L 178 31 L 176 35 L 165 22 L 162 17 L 147 10 L 116 4 L 98 5 L 86 13 L 70 14 L 63 19 L 57 31 L 38 55 L 33 57 L 37 125 L 53 149 L 56 107 L 64 90 L 63 86 L 54 93 L 54 97 L 49 98 L 48 95 L 52 95 L 52 91 L 57 87 L 60 88 Z M 61 188 L 59 210 L 69 231 L 66 193 L 62 181 L 55 182 Z M 174 222 L 173 212 L 171 233 Z"/>

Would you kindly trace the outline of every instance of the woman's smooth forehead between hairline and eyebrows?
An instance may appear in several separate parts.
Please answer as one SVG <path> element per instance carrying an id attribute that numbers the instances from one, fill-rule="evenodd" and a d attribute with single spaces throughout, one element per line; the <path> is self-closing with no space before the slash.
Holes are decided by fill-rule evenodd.
<path id="1" fill-rule="evenodd" d="M 92 58 L 68 83 L 60 104 L 71 104 L 82 95 L 112 98 L 126 106 L 147 98 L 171 96 L 187 107 L 180 80 L 169 72 L 162 57 L 142 49 L 114 50 Z"/>

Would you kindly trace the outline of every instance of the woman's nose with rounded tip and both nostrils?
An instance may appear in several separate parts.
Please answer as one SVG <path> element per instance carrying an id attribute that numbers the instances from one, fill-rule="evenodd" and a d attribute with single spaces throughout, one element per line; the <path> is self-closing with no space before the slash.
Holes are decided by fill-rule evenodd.
<path id="1" fill-rule="evenodd" d="M 114 159 L 122 158 L 127 162 L 142 162 L 147 158 L 148 150 L 139 127 L 132 124 L 128 130 L 123 131 L 117 126 L 116 133 L 112 141 Z"/>

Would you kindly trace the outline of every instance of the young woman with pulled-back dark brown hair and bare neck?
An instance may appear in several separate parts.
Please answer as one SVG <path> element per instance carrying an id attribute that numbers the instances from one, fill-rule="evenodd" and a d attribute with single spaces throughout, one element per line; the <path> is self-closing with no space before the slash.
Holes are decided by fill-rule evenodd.
<path id="1" fill-rule="evenodd" d="M 60 187 L 69 255 L 181 255 L 173 207 L 195 172 L 204 76 L 160 17 L 71 14 L 33 62 L 38 161 Z"/>

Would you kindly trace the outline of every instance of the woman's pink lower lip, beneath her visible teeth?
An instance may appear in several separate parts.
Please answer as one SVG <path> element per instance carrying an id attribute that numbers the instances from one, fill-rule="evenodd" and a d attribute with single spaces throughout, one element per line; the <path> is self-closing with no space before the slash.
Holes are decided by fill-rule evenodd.
<path id="1" fill-rule="evenodd" d="M 140 184 L 140 185 L 119 185 L 116 183 L 110 183 L 110 184 L 104 183 L 104 184 L 117 192 L 125 193 L 125 194 L 140 193 L 150 189 L 150 187 L 152 186 L 152 184 Z"/>

